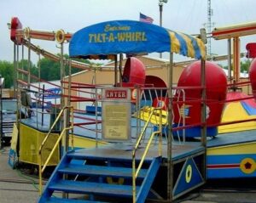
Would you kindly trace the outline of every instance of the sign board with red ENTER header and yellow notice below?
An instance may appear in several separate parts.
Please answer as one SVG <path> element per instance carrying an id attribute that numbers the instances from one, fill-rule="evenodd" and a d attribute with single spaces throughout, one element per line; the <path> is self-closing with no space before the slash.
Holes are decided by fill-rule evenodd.
<path id="1" fill-rule="evenodd" d="M 102 138 L 111 142 L 131 140 L 131 90 L 102 91 Z"/>

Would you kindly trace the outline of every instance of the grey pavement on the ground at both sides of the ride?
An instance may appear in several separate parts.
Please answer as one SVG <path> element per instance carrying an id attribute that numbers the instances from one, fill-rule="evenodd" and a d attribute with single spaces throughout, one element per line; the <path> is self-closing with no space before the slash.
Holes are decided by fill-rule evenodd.
<path id="1" fill-rule="evenodd" d="M 29 171 L 12 169 L 8 164 L 9 147 L 0 149 L 0 202 L 38 202 L 38 178 Z M 255 203 L 256 178 L 210 182 L 183 195 L 175 202 L 183 203 Z"/>

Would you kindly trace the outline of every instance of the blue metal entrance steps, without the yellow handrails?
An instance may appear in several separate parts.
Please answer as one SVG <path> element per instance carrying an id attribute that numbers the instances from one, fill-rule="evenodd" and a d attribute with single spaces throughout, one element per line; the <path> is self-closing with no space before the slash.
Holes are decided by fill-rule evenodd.
<path id="1" fill-rule="evenodd" d="M 144 161 L 137 175 L 136 202 L 147 198 L 160 163 L 160 157 Z M 38 202 L 132 202 L 132 189 L 132 160 L 71 151 L 55 168 Z M 56 192 L 66 198 L 56 197 Z M 68 199 L 71 194 L 80 196 Z"/>

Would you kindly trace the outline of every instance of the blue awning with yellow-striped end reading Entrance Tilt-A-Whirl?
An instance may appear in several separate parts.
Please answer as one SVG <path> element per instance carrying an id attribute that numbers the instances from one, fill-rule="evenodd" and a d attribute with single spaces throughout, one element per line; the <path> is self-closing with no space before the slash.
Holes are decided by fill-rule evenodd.
<path id="1" fill-rule="evenodd" d="M 134 20 L 90 25 L 75 32 L 69 43 L 70 57 L 79 58 L 155 52 L 171 52 L 194 59 L 206 57 L 206 48 L 201 39 Z"/>

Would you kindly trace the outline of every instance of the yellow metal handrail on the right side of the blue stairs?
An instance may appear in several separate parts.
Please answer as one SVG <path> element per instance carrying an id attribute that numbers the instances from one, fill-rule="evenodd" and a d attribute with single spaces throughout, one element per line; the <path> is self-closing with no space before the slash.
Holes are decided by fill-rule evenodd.
<path id="1" fill-rule="evenodd" d="M 159 113 L 157 111 L 160 111 Z M 137 169 L 136 169 L 136 153 L 137 153 L 137 149 L 139 147 L 139 145 L 141 144 L 141 141 L 143 139 L 143 136 L 145 135 L 145 132 L 146 132 L 146 129 L 148 127 L 148 123 L 149 121 L 151 120 L 151 117 L 153 115 L 155 115 L 155 113 L 157 115 L 160 115 L 160 121 L 159 121 L 159 130 L 158 131 L 155 131 L 153 133 L 151 133 L 149 139 L 148 139 L 148 144 L 146 145 L 146 148 L 145 150 L 143 151 L 143 155 L 142 155 L 142 158 L 141 158 L 141 161 L 139 162 L 138 166 L 137 166 Z M 148 121 L 146 121 L 144 127 L 143 127 L 143 131 L 142 133 L 140 134 L 140 136 L 137 138 L 137 143 L 135 144 L 135 147 L 132 151 L 132 202 L 133 203 L 136 203 L 137 201 L 137 194 L 136 194 L 136 179 L 137 179 L 137 176 L 138 176 L 138 173 L 140 172 L 142 166 L 143 166 L 143 162 L 146 158 L 146 155 L 148 154 L 148 149 L 149 149 L 149 146 L 151 145 L 152 143 L 152 140 L 154 138 L 154 135 L 156 134 L 159 134 L 159 147 L 158 147 L 158 153 L 159 153 L 159 156 L 162 155 L 162 109 L 159 107 L 159 108 L 154 108 L 152 107 L 151 109 L 151 112 L 148 116 Z"/>

